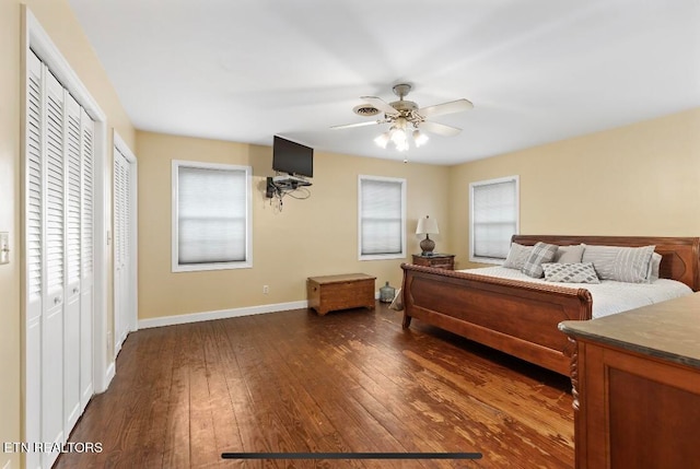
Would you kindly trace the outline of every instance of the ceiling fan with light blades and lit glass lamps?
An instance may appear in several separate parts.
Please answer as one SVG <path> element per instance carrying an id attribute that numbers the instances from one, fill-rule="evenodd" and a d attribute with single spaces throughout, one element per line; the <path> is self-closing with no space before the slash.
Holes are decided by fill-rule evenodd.
<path id="1" fill-rule="evenodd" d="M 393 91 L 394 94 L 398 96 L 398 101 L 387 103 L 376 96 L 361 96 L 361 99 L 366 104 L 361 104 L 352 109 L 357 115 L 365 117 L 376 116 L 380 113 L 384 113 L 383 118 L 365 122 L 332 126 L 331 129 L 349 129 L 377 124 L 390 124 L 389 130 L 374 139 L 374 142 L 382 148 L 386 148 L 388 142 L 393 142 L 398 151 L 406 151 L 408 150 L 409 133 L 411 134 L 416 146 L 421 146 L 428 141 L 428 136 L 422 131 L 444 137 L 456 136 L 462 131 L 462 129 L 456 127 L 428 121 L 427 119 L 429 117 L 462 113 L 474 107 L 471 102 L 464 98 L 436 104 L 434 106 L 418 107 L 418 104 L 412 101 L 404 99 L 404 97 L 411 91 L 410 84 L 395 84 L 393 86 Z M 411 128 L 413 129 L 412 131 Z"/>

